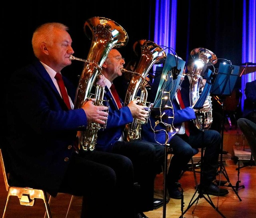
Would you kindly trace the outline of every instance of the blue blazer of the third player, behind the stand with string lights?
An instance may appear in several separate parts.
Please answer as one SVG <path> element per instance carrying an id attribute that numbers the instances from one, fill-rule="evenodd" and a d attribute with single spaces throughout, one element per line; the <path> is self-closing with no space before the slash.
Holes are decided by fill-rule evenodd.
<path id="1" fill-rule="evenodd" d="M 167 109 L 162 111 L 164 112 L 166 117 L 174 117 L 174 119 L 163 119 L 164 123 L 172 123 L 174 128 L 180 129 L 181 125 L 185 121 L 192 121 L 196 119 L 196 115 L 194 110 L 190 107 L 190 93 L 189 93 L 189 80 L 188 77 L 184 77 L 184 81 L 182 81 L 181 89 L 180 89 L 182 100 L 184 102 L 185 108 L 180 109 L 180 106 L 176 99 L 172 102 L 173 110 Z M 155 143 L 156 141 L 161 144 L 165 144 L 166 141 L 166 125 L 163 123 L 159 123 L 155 126 L 155 123 L 159 121 L 157 118 L 160 115 L 160 111 L 151 111 L 150 119 L 148 123 L 142 125 L 141 136 L 143 140 L 150 141 Z M 153 133 L 152 127 L 155 130 Z M 195 127 L 193 122 L 190 122 L 190 132 L 194 131 Z M 176 133 L 175 131 L 170 133 L 168 132 L 168 137 L 171 138 L 172 134 Z"/>

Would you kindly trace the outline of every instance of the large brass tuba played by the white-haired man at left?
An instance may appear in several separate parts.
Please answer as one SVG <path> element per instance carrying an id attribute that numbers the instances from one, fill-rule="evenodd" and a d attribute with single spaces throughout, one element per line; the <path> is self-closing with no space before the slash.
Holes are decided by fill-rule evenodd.
<path id="1" fill-rule="evenodd" d="M 84 61 L 84 68 L 76 89 L 75 108 L 81 108 L 88 99 L 95 99 L 94 105 L 102 106 L 104 87 L 96 85 L 95 93 L 92 87 L 96 78 L 102 73 L 102 64 L 112 48 L 125 46 L 128 42 L 126 31 L 116 22 L 108 18 L 93 17 L 84 23 L 84 32 L 92 40 L 87 59 L 79 59 L 70 55 L 70 60 Z M 86 131 L 78 131 L 78 147 L 84 151 L 95 148 L 97 133 L 106 125 L 88 122 Z"/>

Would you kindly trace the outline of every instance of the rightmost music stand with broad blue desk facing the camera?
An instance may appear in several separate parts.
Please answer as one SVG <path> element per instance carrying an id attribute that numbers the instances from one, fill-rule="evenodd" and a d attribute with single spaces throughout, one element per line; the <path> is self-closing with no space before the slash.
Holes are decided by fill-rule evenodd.
<path id="1" fill-rule="evenodd" d="M 211 94 L 221 95 L 222 99 L 225 99 L 226 96 L 230 96 L 236 84 L 236 80 L 239 74 L 239 69 L 240 67 L 236 65 L 220 63 L 218 74 L 212 86 Z M 220 145 L 220 162 L 219 162 L 220 170 L 218 171 L 218 173 L 223 174 L 226 180 L 228 181 L 228 185 L 224 185 L 224 186 L 231 187 L 234 190 L 238 199 L 242 201 L 242 199 L 238 195 L 238 192 L 235 190 L 235 187 L 236 189 L 238 189 L 237 185 L 233 186 L 231 184 L 230 179 L 228 177 L 228 173 L 223 164 L 223 140 L 224 140 L 224 122 L 225 122 L 224 101 L 222 101 L 222 116 L 223 116 L 222 117 L 222 133 L 221 133 L 222 140 Z M 241 186 L 241 187 L 244 188 L 244 186 Z"/>

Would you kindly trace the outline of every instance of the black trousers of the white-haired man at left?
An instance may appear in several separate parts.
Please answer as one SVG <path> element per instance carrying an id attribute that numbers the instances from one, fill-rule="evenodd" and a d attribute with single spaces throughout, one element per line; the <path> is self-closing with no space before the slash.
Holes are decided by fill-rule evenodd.
<path id="1" fill-rule="evenodd" d="M 135 214 L 130 200 L 134 197 L 133 166 L 122 155 L 74 153 L 59 192 L 83 196 L 81 218 L 131 218 Z"/>

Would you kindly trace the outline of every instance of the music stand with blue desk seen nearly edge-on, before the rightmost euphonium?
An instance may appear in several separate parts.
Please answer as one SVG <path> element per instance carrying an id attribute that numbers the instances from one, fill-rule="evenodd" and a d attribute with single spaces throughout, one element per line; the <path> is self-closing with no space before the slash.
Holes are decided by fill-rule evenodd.
<path id="1" fill-rule="evenodd" d="M 206 101 L 206 98 L 208 96 L 208 94 L 210 93 L 210 89 L 212 88 L 212 81 L 210 81 L 210 78 L 212 78 L 212 72 L 210 70 L 208 70 L 208 76 L 207 76 L 207 83 L 205 84 L 205 87 L 204 87 L 204 90 L 202 91 L 202 94 L 200 95 L 198 101 L 196 102 L 196 104 L 194 105 L 194 109 L 202 109 L 203 108 L 203 105 L 204 105 L 204 102 Z M 202 116 L 202 144 L 204 144 L 204 121 L 205 121 L 205 115 L 204 113 L 200 113 L 198 112 L 196 115 L 200 115 Z M 197 204 L 198 200 L 200 198 L 204 198 L 213 208 L 214 210 L 216 210 L 222 217 L 225 218 L 225 216 L 218 210 L 218 208 L 214 205 L 214 203 L 212 202 L 210 196 L 208 195 L 207 192 L 205 192 L 205 194 L 207 195 L 208 198 L 206 198 L 206 196 L 203 194 L 203 187 L 202 187 L 202 184 L 203 184 L 203 176 L 204 176 L 204 149 L 202 148 L 201 149 L 201 170 L 200 170 L 200 184 L 196 187 L 196 191 L 194 193 L 194 195 L 192 196 L 189 204 L 188 204 L 188 207 L 186 208 L 186 210 L 184 211 L 183 214 L 185 214 L 191 207 L 194 203 Z M 194 199 L 194 197 L 196 196 L 196 193 L 198 192 L 198 196 Z M 194 200 L 193 200 L 194 199 Z M 194 212 L 194 210 L 193 210 Z M 180 218 L 183 218 L 183 214 L 182 216 L 180 216 Z"/>

